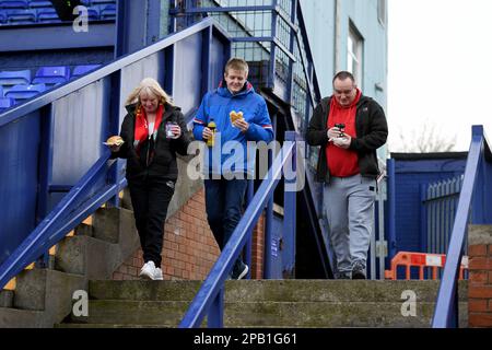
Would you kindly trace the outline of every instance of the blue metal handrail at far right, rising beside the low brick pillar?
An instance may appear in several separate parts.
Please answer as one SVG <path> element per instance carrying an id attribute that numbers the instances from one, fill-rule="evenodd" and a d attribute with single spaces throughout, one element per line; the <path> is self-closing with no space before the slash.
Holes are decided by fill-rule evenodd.
<path id="1" fill-rule="evenodd" d="M 443 278 L 441 280 L 437 293 L 433 328 L 456 328 L 458 327 L 458 272 L 462 258 L 462 248 L 465 245 L 468 217 L 473 199 L 473 191 L 477 188 L 477 179 L 483 174 L 483 162 L 490 162 L 490 148 L 482 126 L 472 127 L 472 138 L 470 151 L 468 153 L 467 165 L 465 168 L 465 178 L 461 192 L 459 195 L 458 209 L 449 242 L 449 248 L 446 255 Z M 489 179 L 490 180 L 490 179 Z M 483 205 L 483 203 L 482 203 Z M 481 210 L 473 208 L 473 210 Z M 489 209 L 490 210 L 490 209 Z"/>

